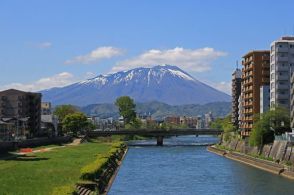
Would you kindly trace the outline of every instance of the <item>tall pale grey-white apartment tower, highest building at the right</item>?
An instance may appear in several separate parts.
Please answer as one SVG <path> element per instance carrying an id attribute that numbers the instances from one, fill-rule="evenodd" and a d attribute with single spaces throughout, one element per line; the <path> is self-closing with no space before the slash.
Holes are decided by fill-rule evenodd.
<path id="1" fill-rule="evenodd" d="M 270 104 L 290 110 L 290 75 L 294 71 L 294 37 L 282 37 L 271 44 Z"/>

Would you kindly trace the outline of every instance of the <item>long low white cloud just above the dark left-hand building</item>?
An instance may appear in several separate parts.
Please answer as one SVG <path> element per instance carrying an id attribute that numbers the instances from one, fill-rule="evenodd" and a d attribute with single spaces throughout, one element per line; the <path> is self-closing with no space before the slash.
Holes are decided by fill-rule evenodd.
<path id="1" fill-rule="evenodd" d="M 1 90 L 6 89 L 19 89 L 22 91 L 40 91 L 43 89 L 49 89 L 52 87 L 63 87 L 68 84 L 75 82 L 76 79 L 71 73 L 62 72 L 51 77 L 41 78 L 37 81 L 31 83 L 11 83 L 5 85 L 1 88 Z"/>

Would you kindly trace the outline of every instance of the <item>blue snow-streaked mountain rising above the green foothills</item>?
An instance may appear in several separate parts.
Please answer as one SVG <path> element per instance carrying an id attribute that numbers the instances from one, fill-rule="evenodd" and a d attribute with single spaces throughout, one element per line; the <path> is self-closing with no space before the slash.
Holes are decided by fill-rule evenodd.
<path id="1" fill-rule="evenodd" d="M 44 101 L 54 105 L 78 106 L 113 103 L 123 95 L 134 98 L 136 102 L 160 101 L 171 105 L 205 104 L 231 99 L 229 95 L 170 65 L 100 75 L 66 87 L 44 90 L 42 94 Z"/>

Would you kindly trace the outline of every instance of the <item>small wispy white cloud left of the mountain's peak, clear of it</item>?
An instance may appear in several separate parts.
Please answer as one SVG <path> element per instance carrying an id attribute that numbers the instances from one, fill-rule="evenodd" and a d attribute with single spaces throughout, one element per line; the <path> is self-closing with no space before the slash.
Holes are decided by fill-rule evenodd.
<path id="1" fill-rule="evenodd" d="M 115 47 L 98 47 L 86 55 L 76 56 L 73 59 L 66 60 L 65 64 L 90 64 L 102 59 L 108 59 L 123 54 L 123 50 Z"/>

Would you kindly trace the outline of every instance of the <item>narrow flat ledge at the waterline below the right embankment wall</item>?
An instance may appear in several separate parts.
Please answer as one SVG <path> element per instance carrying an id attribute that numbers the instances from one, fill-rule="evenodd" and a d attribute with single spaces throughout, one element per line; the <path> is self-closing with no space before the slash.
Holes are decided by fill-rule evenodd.
<path id="1" fill-rule="evenodd" d="M 290 171 L 288 166 L 253 157 L 244 153 L 217 148 L 215 146 L 209 146 L 207 147 L 207 150 L 228 159 L 294 180 L 294 172 Z"/>

